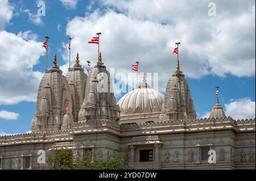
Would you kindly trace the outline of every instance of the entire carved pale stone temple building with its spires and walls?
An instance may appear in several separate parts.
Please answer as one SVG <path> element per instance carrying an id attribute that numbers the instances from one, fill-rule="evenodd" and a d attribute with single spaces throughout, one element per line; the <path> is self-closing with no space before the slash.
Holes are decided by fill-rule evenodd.
<path id="1" fill-rule="evenodd" d="M 48 169 L 47 163 L 38 162 L 38 151 L 43 150 L 47 159 L 53 146 L 73 150 L 74 159 L 90 153 L 108 159 L 110 151 L 118 151 L 134 169 L 255 169 L 255 119 L 233 120 L 222 113 L 196 119 L 181 71 L 168 81 L 162 103 L 147 100 L 150 94 L 144 93 L 150 88 L 141 85 L 138 89 L 146 90 L 138 90 L 133 98 L 141 100 L 133 107 L 141 112 L 131 115 L 115 103 L 102 62 L 88 78 L 79 62 L 67 78 L 61 73 L 56 63 L 40 82 L 32 133 L 0 137 L 0 169 Z M 110 85 L 107 91 L 100 91 L 102 81 Z M 141 91 L 147 97 L 139 98 Z M 150 150 L 150 160 L 142 161 L 143 150 Z M 208 150 L 216 151 L 216 163 L 205 159 Z"/>

